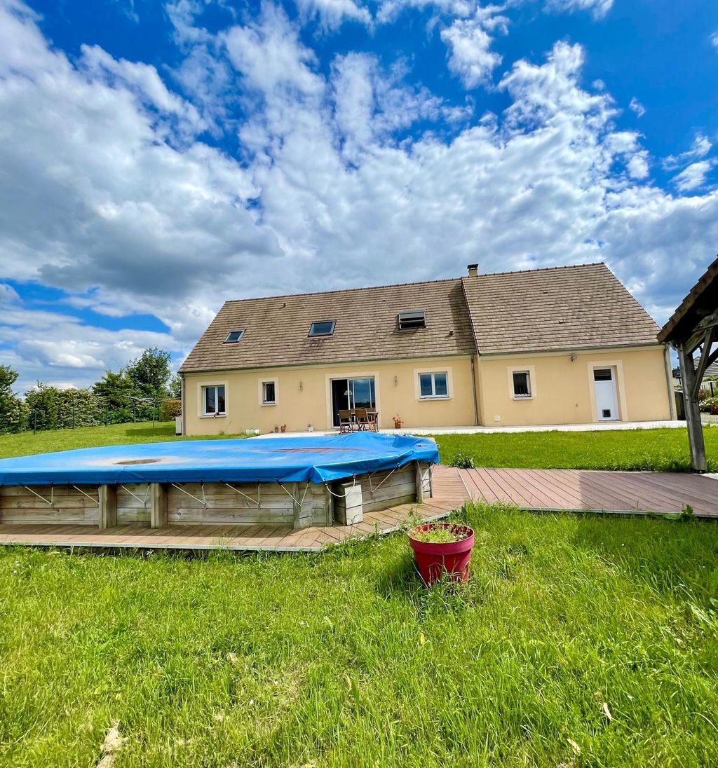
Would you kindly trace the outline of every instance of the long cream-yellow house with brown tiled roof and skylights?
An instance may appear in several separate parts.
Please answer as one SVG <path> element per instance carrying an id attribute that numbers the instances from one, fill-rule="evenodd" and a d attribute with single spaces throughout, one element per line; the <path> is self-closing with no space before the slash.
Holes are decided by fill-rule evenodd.
<path id="1" fill-rule="evenodd" d="M 603 263 L 228 301 L 181 366 L 184 430 L 670 419 L 657 332 Z"/>

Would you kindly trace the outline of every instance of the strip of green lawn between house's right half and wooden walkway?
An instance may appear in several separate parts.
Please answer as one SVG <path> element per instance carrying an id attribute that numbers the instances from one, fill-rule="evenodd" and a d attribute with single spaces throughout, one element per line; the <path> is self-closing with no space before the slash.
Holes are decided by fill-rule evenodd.
<path id="1" fill-rule="evenodd" d="M 703 429 L 710 472 L 718 472 L 718 427 Z M 438 435 L 441 462 L 469 456 L 477 467 L 690 471 L 685 429 L 504 432 Z"/>

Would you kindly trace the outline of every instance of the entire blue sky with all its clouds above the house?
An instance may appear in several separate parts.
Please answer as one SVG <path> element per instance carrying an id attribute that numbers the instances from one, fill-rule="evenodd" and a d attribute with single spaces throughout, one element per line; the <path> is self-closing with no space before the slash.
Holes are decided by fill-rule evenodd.
<path id="1" fill-rule="evenodd" d="M 0 362 L 175 365 L 224 300 L 718 250 L 718 6 L 0 0 Z"/>

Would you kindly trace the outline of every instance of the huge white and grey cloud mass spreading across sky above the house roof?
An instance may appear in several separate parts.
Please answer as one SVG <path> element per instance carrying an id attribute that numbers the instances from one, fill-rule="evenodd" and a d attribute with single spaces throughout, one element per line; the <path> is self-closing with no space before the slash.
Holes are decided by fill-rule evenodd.
<path id="1" fill-rule="evenodd" d="M 86 383 L 143 346 L 184 353 L 227 298 L 450 276 L 474 260 L 607 260 L 664 316 L 718 240 L 718 192 L 648 180 L 640 136 L 617 130 L 610 94 L 582 87 L 578 45 L 517 61 L 498 86 L 506 110 L 447 127 L 470 102 L 444 104 L 408 84 L 407 65 L 364 53 L 321 68 L 271 5 L 210 35 L 194 27 L 201 4 L 175 3 L 185 98 L 165 71 L 99 48 L 68 61 L 32 12 L 4 8 L 0 279 L 170 329 L 110 332 L 9 293 L 0 358 L 24 380 Z M 206 101 L 203 61 L 221 73 Z M 246 117 L 225 122 L 237 103 Z M 203 124 L 236 131 L 241 162 L 202 143 Z M 696 137 L 681 163 L 710 162 L 710 148 Z"/>

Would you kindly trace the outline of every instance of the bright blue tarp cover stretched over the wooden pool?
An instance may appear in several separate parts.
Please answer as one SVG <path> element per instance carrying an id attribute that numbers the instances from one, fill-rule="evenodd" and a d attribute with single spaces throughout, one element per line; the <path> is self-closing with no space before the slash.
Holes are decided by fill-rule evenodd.
<path id="1" fill-rule="evenodd" d="M 182 440 L 107 445 L 0 459 L 0 485 L 128 482 L 327 482 L 401 467 L 436 464 L 428 438 L 351 435 Z"/>

